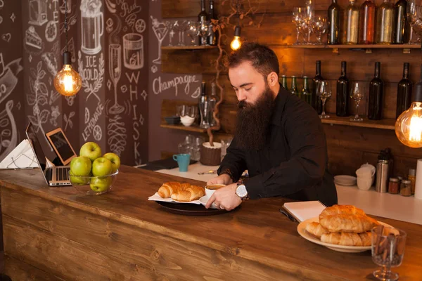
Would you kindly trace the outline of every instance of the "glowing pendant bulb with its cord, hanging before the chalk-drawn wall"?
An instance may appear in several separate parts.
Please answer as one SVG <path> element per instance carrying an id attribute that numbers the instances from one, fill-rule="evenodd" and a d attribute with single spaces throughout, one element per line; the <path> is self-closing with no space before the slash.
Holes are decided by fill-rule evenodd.
<path id="1" fill-rule="evenodd" d="M 63 52 L 63 68 L 54 77 L 54 88 L 63 96 L 74 96 L 81 89 L 82 79 L 73 68 L 71 54 L 68 51 L 68 0 L 65 0 L 66 48 Z"/>

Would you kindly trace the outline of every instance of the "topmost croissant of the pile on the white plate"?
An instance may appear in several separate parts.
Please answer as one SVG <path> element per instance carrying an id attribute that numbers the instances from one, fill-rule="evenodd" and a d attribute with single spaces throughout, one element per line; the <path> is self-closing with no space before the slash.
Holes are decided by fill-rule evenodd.
<path id="1" fill-rule="evenodd" d="M 369 216 L 352 214 L 319 216 L 319 223 L 331 233 L 364 233 L 379 224 Z"/>

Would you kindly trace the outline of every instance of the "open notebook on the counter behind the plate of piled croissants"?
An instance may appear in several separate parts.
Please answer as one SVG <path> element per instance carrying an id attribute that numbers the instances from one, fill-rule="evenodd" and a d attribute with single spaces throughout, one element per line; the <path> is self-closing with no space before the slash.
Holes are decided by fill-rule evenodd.
<path id="1" fill-rule="evenodd" d="M 319 201 L 284 203 L 283 208 L 300 223 L 321 214 L 326 207 Z"/>

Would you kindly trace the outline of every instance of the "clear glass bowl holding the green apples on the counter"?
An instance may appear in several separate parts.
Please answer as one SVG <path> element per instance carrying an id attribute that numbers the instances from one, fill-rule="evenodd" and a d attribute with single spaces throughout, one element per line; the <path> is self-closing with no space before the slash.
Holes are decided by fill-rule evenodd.
<path id="1" fill-rule="evenodd" d="M 80 193 L 87 195 L 100 195 L 109 192 L 117 180 L 117 170 L 114 174 L 107 176 L 71 176 L 70 183 Z"/>

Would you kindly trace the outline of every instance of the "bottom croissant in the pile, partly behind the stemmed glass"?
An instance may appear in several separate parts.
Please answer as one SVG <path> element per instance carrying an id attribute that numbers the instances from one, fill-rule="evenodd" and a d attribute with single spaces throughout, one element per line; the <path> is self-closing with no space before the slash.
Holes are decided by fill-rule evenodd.
<path id="1" fill-rule="evenodd" d="M 366 233 L 323 233 L 321 241 L 343 246 L 371 246 L 371 232 Z"/>

